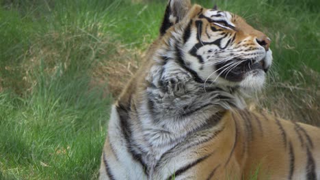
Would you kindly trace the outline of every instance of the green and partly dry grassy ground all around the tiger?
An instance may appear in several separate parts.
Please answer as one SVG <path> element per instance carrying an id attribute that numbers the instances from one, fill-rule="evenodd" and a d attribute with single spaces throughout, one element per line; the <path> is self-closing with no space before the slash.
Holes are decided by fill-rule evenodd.
<path id="1" fill-rule="evenodd" d="M 217 2 L 273 40 L 258 108 L 319 125 L 319 2 Z M 112 97 L 157 37 L 164 8 L 0 0 L 0 179 L 96 179 Z"/>

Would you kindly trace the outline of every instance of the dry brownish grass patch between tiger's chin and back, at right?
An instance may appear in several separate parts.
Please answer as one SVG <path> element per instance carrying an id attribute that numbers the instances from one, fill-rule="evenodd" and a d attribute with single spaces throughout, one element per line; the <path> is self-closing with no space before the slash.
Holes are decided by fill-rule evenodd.
<path id="1" fill-rule="evenodd" d="M 286 82 L 274 77 L 257 98 L 258 107 L 284 119 L 320 126 L 320 74 L 306 66 L 302 72 L 294 71 Z"/>

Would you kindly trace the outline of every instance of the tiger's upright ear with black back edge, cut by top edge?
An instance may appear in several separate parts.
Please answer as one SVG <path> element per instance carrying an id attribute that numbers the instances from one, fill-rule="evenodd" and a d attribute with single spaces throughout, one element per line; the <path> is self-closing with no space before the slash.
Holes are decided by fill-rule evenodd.
<path id="1" fill-rule="evenodd" d="M 191 8 L 190 0 L 169 0 L 165 9 L 160 35 L 164 35 L 170 27 L 181 21 Z"/>

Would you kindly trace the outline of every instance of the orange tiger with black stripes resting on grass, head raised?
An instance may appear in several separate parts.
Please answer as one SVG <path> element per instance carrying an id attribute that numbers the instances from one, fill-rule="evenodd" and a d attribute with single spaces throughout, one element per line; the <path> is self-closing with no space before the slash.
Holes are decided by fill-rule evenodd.
<path id="1" fill-rule="evenodd" d="M 246 105 L 270 44 L 241 16 L 168 1 L 111 107 L 99 179 L 320 179 L 320 129 Z"/>

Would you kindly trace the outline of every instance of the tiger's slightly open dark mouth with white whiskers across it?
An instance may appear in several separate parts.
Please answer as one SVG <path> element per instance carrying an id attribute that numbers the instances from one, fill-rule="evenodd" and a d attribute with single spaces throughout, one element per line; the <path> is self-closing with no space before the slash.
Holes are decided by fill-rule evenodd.
<path id="1" fill-rule="evenodd" d="M 266 73 L 268 70 L 265 68 L 265 58 L 260 61 L 256 59 L 235 59 L 234 61 L 219 63 L 216 67 L 220 77 L 232 82 L 240 82 L 246 74 L 257 75 L 261 72 Z"/>

